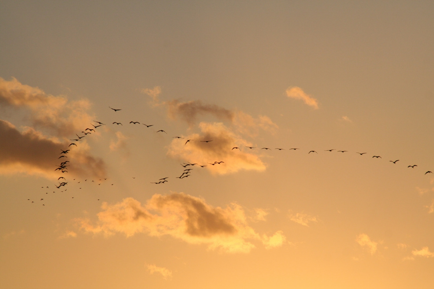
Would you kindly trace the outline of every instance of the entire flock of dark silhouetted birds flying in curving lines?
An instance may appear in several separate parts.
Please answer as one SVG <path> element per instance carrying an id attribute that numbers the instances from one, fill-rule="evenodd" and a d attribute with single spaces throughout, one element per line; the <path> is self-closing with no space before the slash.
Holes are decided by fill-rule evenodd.
<path id="1" fill-rule="evenodd" d="M 122 110 L 122 109 L 115 109 L 115 108 L 112 108 L 112 107 L 109 107 L 109 108 L 111 108 L 111 109 L 114 110 L 115 112 L 117 112 L 117 111 L 119 111 L 119 110 Z M 94 120 L 94 122 L 95 122 L 95 123 L 92 123 L 92 127 L 93 127 L 93 128 L 86 128 L 85 130 L 82 131 L 82 133 L 84 134 L 83 136 L 79 136 L 79 135 L 76 133 L 77 138 L 76 138 L 76 139 L 71 139 L 73 142 L 69 144 L 68 149 L 65 149 L 65 150 L 61 149 L 61 153 L 59 153 L 60 156 L 58 157 L 58 159 L 62 159 L 62 160 L 63 160 L 63 158 L 67 158 L 67 157 L 68 157 L 67 154 L 68 154 L 69 151 L 71 150 L 71 149 L 69 148 L 70 146 L 77 146 L 77 143 L 78 143 L 79 141 L 81 141 L 82 138 L 84 138 L 84 137 L 87 136 L 88 134 L 92 134 L 92 132 L 95 132 L 95 130 L 96 130 L 98 127 L 101 127 L 101 126 L 103 126 L 103 125 L 106 125 L 106 124 L 104 124 L 104 123 L 102 123 L 102 122 L 100 122 L 100 121 L 96 121 L 96 120 Z M 129 123 L 130 123 L 130 124 L 134 124 L 134 125 L 136 125 L 136 124 L 143 124 L 143 125 L 145 125 L 147 128 L 154 126 L 153 124 L 148 125 L 148 124 L 145 124 L 145 123 L 140 123 L 140 122 L 138 122 L 138 121 L 130 121 Z M 116 122 L 116 121 L 113 122 L 112 124 L 122 125 L 122 123 L 120 123 L 120 122 Z M 167 134 L 167 132 L 164 131 L 164 130 L 157 130 L 156 132 L 157 132 L 157 133 L 160 133 L 160 132 L 161 132 L 161 133 L 166 133 L 166 134 Z M 181 137 L 181 136 L 172 136 L 172 138 L 184 139 L 184 137 Z M 196 141 L 196 140 L 188 139 L 188 140 L 185 141 L 184 145 L 187 145 L 188 143 L 190 143 L 190 142 L 192 142 L 192 141 Z M 212 141 L 214 141 L 214 140 L 199 140 L 199 141 L 200 141 L 200 142 L 203 142 L 203 143 L 210 143 L 210 142 L 212 142 Z M 265 149 L 265 150 L 272 150 L 272 149 L 269 148 L 269 147 L 262 147 L 262 148 L 255 147 L 255 146 L 245 146 L 245 147 L 248 148 L 249 150 L 251 150 L 251 149 Z M 241 151 L 241 148 L 240 148 L 239 146 L 234 146 L 231 150 L 234 150 L 234 149 L 238 149 L 238 150 Z M 281 150 L 285 150 L 285 149 L 283 149 L 283 148 L 275 148 L 275 149 L 277 149 L 277 150 L 279 150 L 279 151 L 281 151 Z M 294 151 L 296 151 L 297 149 L 300 149 L 300 148 L 290 148 L 290 149 L 288 149 L 288 150 L 294 150 Z M 347 153 L 347 152 L 348 152 L 347 150 L 337 150 L 337 149 L 325 149 L 324 151 L 325 151 L 325 152 L 333 152 L 333 151 L 336 151 L 336 152 L 340 152 L 340 153 Z M 310 150 L 310 151 L 308 152 L 308 154 L 310 154 L 310 153 L 316 153 L 316 154 L 318 154 L 318 152 L 315 151 L 315 150 Z M 355 152 L 355 153 L 358 153 L 358 152 Z M 358 153 L 358 154 L 361 155 L 361 156 L 363 156 L 363 155 L 366 154 L 366 153 Z M 380 158 L 380 159 L 381 159 L 381 156 L 372 156 L 372 158 L 377 158 L 377 159 Z M 392 162 L 393 164 L 396 164 L 398 161 L 399 161 L 399 159 L 397 159 L 397 160 L 390 160 L 390 162 Z M 208 166 L 208 165 L 210 165 L 210 166 L 215 166 L 215 165 L 220 165 L 220 164 L 222 164 L 222 163 L 224 163 L 224 161 L 207 162 L 206 164 L 198 164 L 198 163 L 191 163 L 191 162 L 183 162 L 183 163 L 181 163 L 181 166 L 184 168 L 184 171 L 181 172 L 181 175 L 180 175 L 180 176 L 175 177 L 175 178 L 177 178 L 177 179 L 184 179 L 184 178 L 187 178 L 187 177 L 191 176 L 191 171 L 192 171 L 193 169 L 192 169 L 192 168 L 188 168 L 188 169 L 186 169 L 187 166 L 192 166 L 192 167 L 193 167 L 193 166 L 200 166 L 201 168 L 204 168 L 204 167 L 206 167 L 206 166 Z M 69 160 L 64 160 L 64 161 L 60 162 L 59 165 L 57 165 L 57 167 L 56 167 L 56 169 L 55 169 L 54 171 L 59 171 L 59 172 L 61 172 L 62 174 L 65 174 L 65 173 L 68 172 L 67 169 L 68 169 L 69 166 L 70 166 L 70 165 L 69 165 Z M 411 168 L 411 169 L 414 169 L 414 167 L 416 167 L 416 166 L 418 166 L 418 165 L 409 165 L 409 166 L 407 166 L 407 167 L 408 167 L 408 168 Z M 433 173 L 433 172 L 431 172 L 431 171 L 428 170 L 427 172 L 424 173 L 424 175 L 427 175 L 427 174 L 430 174 L 430 173 Z M 62 181 L 60 181 L 61 179 L 62 179 Z M 135 179 L 135 177 L 133 177 L 133 179 Z M 155 182 L 150 182 L 150 183 L 152 183 L 152 184 L 157 184 L 157 185 L 159 185 L 159 184 L 164 184 L 164 183 L 166 183 L 166 182 L 169 182 L 168 179 L 170 179 L 170 178 L 169 178 L 169 177 L 164 177 L 164 178 L 158 179 L 158 180 L 155 181 Z M 62 188 L 63 190 L 62 190 L 61 192 L 66 192 L 66 190 L 67 190 L 66 185 L 68 185 L 68 183 L 71 182 L 71 181 L 67 181 L 64 175 L 59 176 L 59 178 L 58 178 L 57 180 L 58 180 L 59 184 L 58 184 L 58 185 L 54 185 L 54 186 L 55 186 L 57 189 L 60 189 L 61 187 L 63 187 L 63 188 Z M 102 185 L 102 183 L 103 183 L 105 180 L 107 180 L 107 178 L 99 179 L 99 180 L 98 180 L 98 185 Z M 73 179 L 72 181 L 76 182 L 77 179 Z M 83 180 L 83 182 L 87 182 L 87 181 L 88 181 L 88 179 L 84 179 L 84 180 Z M 78 181 L 78 182 L 76 182 L 76 183 L 79 184 L 79 183 L 81 183 L 81 182 L 82 182 L 82 180 L 80 180 L 80 181 Z M 89 183 L 95 183 L 95 181 L 92 180 L 92 181 L 89 182 Z M 95 184 L 96 184 L 96 183 L 95 183 Z M 114 185 L 114 184 L 111 184 L 111 185 Z M 47 188 L 47 189 L 49 189 L 49 186 L 42 187 L 42 188 Z M 81 187 L 80 187 L 79 189 L 81 189 Z M 56 192 L 56 191 L 53 191 L 53 193 L 55 193 L 55 192 Z M 48 192 L 46 192 L 46 194 L 48 194 Z M 74 198 L 74 197 L 72 197 L 72 198 Z M 27 200 L 28 200 L 28 201 L 31 201 L 31 203 L 34 203 L 34 201 L 32 201 L 31 199 L 27 199 Z M 40 198 L 40 201 L 43 201 L 43 200 L 44 200 L 44 198 Z M 97 200 L 99 201 L 99 199 L 97 199 Z M 43 204 L 43 203 L 42 203 L 42 205 L 45 206 L 45 204 Z"/>

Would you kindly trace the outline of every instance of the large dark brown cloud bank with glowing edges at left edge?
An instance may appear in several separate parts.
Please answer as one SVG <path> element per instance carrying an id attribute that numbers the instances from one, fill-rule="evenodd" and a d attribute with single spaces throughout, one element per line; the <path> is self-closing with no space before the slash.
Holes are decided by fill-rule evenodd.
<path id="1" fill-rule="evenodd" d="M 11 81 L 0 78 L 0 104 L 23 111 L 26 114 L 23 120 L 30 120 L 32 125 L 18 130 L 9 121 L 0 120 L 0 174 L 26 173 L 57 179 L 59 173 L 55 172 L 54 164 L 61 162 L 59 153 L 69 148 L 71 134 L 84 130 L 92 121 L 93 117 L 85 112 L 89 102 L 71 102 L 64 96 L 56 97 L 21 84 L 15 78 Z M 104 162 L 90 155 L 85 140 L 69 149 L 69 174 L 105 175 Z"/>

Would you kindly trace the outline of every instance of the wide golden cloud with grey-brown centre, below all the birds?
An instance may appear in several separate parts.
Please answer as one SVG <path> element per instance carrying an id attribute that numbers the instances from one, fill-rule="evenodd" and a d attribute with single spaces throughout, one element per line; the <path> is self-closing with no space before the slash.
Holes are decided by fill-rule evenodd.
<path id="1" fill-rule="evenodd" d="M 255 247 L 251 240 L 263 241 L 268 247 L 282 244 L 281 231 L 272 237 L 260 237 L 247 224 L 244 210 L 235 203 L 226 208 L 213 207 L 203 199 L 184 193 L 153 195 L 145 205 L 125 198 L 115 205 L 102 204 L 98 222 L 76 219 L 82 230 L 109 236 L 137 233 L 150 236 L 170 235 L 190 244 L 207 244 L 210 250 L 248 253 Z"/>

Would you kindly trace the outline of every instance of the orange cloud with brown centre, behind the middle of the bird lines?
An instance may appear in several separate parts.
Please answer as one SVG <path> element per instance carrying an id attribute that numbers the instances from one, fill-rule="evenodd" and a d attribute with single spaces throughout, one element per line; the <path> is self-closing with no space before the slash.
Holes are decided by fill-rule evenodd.
<path id="1" fill-rule="evenodd" d="M 255 153 L 245 150 L 249 145 L 246 140 L 233 133 L 223 123 L 200 123 L 201 133 L 185 136 L 185 139 L 174 139 L 168 147 L 168 155 L 187 162 L 206 165 L 211 173 L 227 174 L 241 169 L 263 171 L 265 164 Z M 186 140 L 193 140 L 185 143 Z M 212 140 L 209 143 L 201 140 Z M 240 147 L 240 149 L 232 149 Z M 210 163 L 224 163 L 211 165 Z"/>

